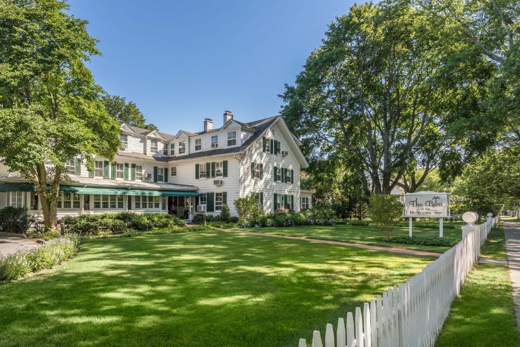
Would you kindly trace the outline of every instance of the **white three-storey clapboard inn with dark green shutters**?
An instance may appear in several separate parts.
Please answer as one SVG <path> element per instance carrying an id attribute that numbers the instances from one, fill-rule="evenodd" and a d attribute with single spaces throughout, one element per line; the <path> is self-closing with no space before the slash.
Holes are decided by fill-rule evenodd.
<path id="1" fill-rule="evenodd" d="M 58 216 L 133 211 L 172 213 L 191 219 L 218 214 L 233 201 L 253 195 L 266 212 L 311 207 L 311 191 L 300 189 L 308 164 L 300 141 L 281 116 L 242 123 L 224 113 L 223 125 L 204 120 L 199 133 L 176 135 L 121 125 L 122 146 L 114 160 L 96 158 L 94 171 L 73 158 L 70 179 L 60 186 Z M 40 213 L 34 186 L 0 165 L 0 208 Z"/>

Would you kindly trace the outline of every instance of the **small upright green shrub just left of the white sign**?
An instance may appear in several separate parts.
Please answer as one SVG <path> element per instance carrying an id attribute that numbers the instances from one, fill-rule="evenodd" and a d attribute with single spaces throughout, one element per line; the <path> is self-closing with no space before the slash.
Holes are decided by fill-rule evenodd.
<path id="1" fill-rule="evenodd" d="M 398 197 L 393 195 L 370 196 L 370 216 L 372 222 L 381 231 L 385 239 L 396 227 L 399 217 L 402 215 L 402 204 Z"/>

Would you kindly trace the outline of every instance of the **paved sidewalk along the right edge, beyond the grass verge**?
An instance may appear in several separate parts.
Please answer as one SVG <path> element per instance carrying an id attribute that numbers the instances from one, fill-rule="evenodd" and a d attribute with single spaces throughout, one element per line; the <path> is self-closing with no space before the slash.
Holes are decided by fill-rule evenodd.
<path id="1" fill-rule="evenodd" d="M 520 225 L 503 220 L 505 249 L 508 253 L 508 265 L 513 282 L 513 300 L 515 302 L 516 324 L 520 330 Z"/>

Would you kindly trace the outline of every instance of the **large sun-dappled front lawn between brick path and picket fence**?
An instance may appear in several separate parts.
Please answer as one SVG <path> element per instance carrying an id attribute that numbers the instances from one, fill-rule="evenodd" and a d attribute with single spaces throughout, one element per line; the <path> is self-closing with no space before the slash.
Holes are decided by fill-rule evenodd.
<path id="1" fill-rule="evenodd" d="M 87 240 L 0 285 L 0 345 L 297 345 L 431 260 L 220 231 Z"/>

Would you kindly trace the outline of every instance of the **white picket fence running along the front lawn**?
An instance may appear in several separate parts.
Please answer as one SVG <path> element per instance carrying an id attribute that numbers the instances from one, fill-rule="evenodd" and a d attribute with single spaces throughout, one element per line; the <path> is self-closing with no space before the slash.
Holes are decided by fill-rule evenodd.
<path id="1" fill-rule="evenodd" d="M 415 347 L 435 344 L 440 329 L 450 312 L 451 303 L 459 295 L 466 275 L 478 259 L 491 228 L 498 219 L 488 218 L 420 273 L 401 286 L 356 307 L 327 324 L 325 347 Z M 300 339 L 298 347 L 306 347 Z M 312 347 L 323 347 L 321 334 L 315 330 Z"/>

